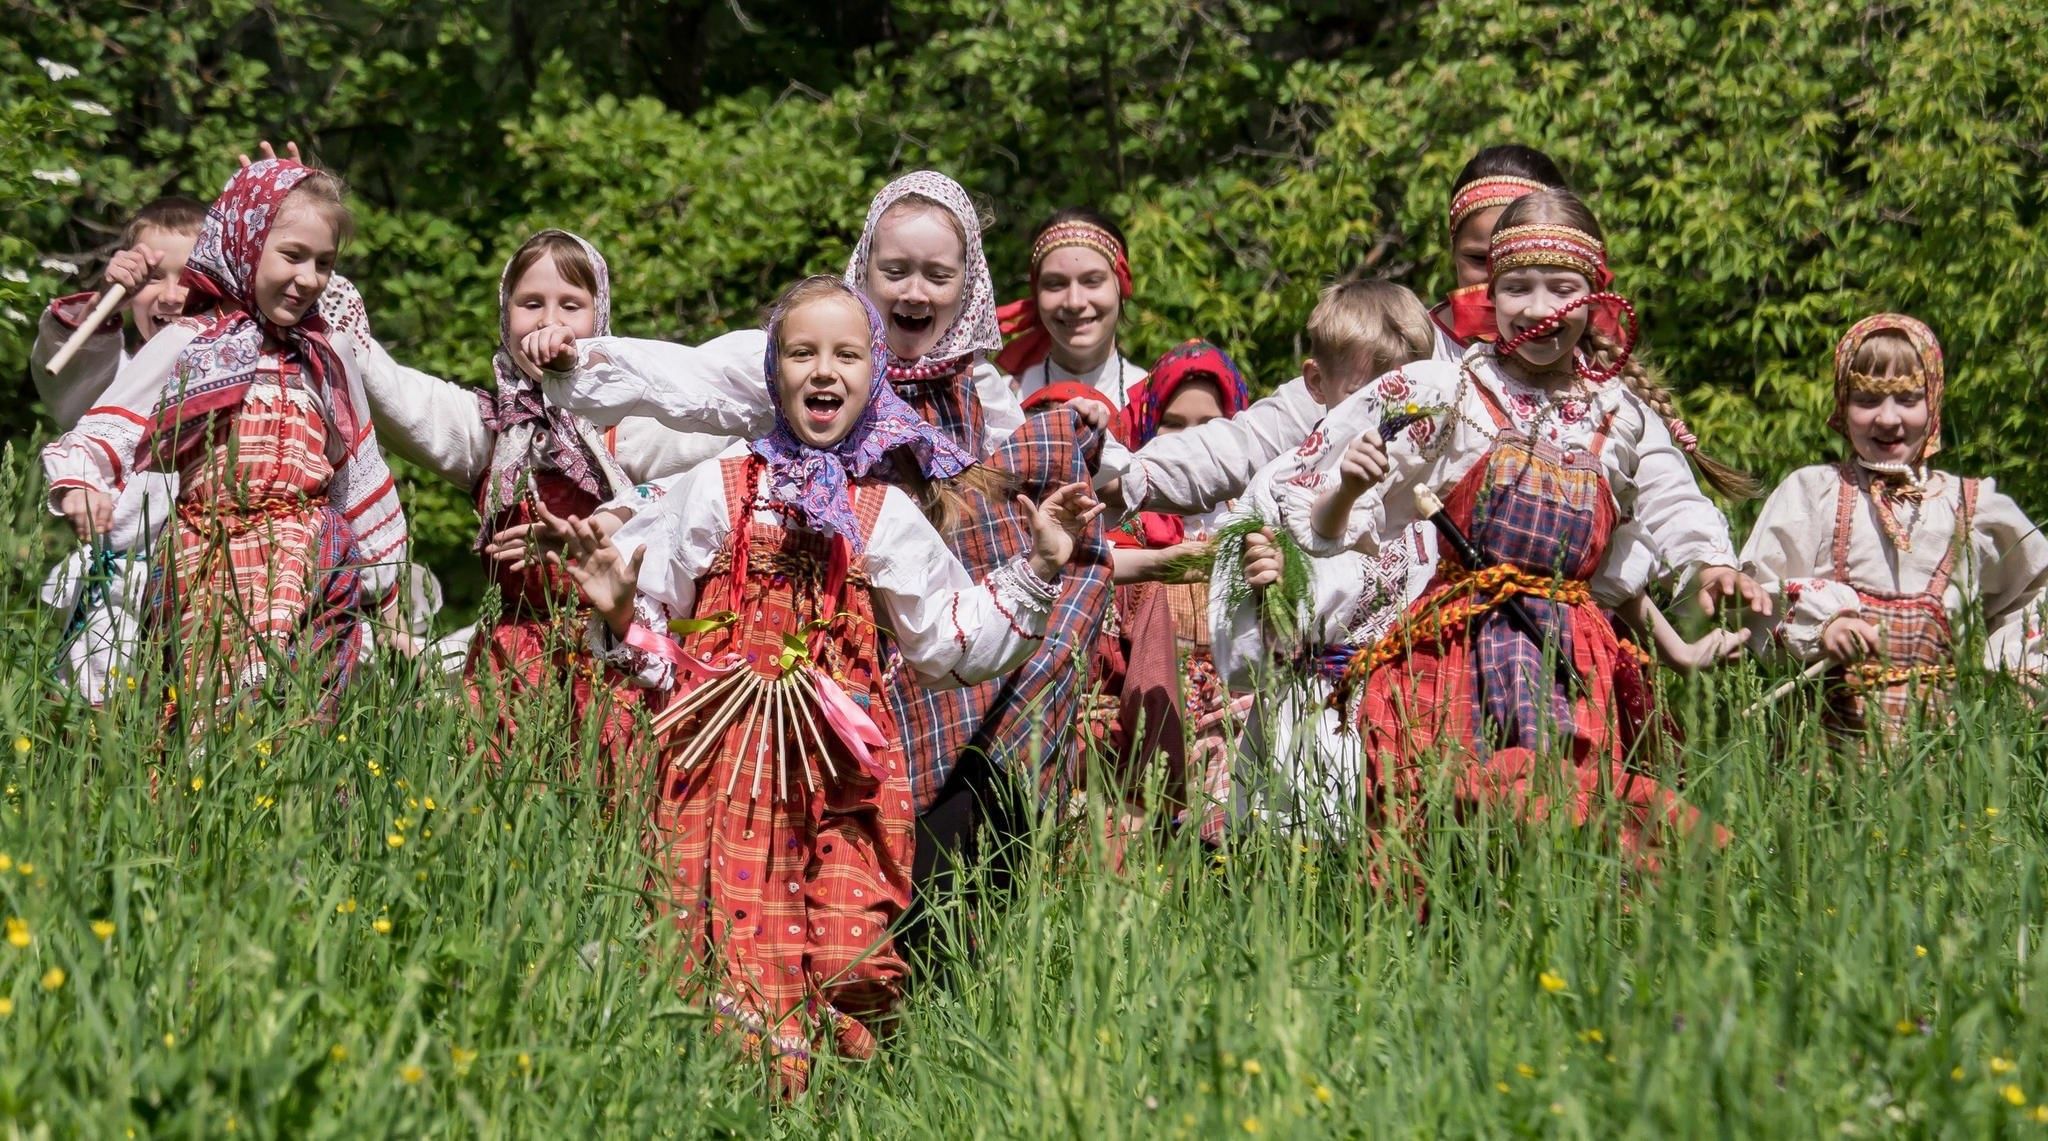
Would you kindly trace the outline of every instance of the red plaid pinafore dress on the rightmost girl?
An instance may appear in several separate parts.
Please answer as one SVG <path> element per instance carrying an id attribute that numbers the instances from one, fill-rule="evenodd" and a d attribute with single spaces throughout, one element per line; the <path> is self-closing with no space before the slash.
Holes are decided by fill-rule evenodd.
<path id="1" fill-rule="evenodd" d="M 1866 590 L 1849 582 L 1849 522 L 1866 496 L 1866 477 L 1849 465 L 1841 467 L 1841 494 L 1835 498 L 1835 567 L 1831 578 L 1855 590 L 1864 619 L 1876 623 L 1882 635 L 1878 662 L 1833 670 L 1827 690 L 1827 725 L 1862 735 L 1872 719 L 1886 737 L 1901 733 L 1913 717 L 1946 709 L 1948 684 L 1956 678 L 1956 635 L 1950 629 L 1948 582 L 1956 572 L 1956 551 L 1970 541 L 1970 516 L 1976 514 L 1976 479 L 1962 481 L 1962 506 L 1956 508 L 1956 535 L 1942 555 L 1927 590 L 1890 594 Z"/>

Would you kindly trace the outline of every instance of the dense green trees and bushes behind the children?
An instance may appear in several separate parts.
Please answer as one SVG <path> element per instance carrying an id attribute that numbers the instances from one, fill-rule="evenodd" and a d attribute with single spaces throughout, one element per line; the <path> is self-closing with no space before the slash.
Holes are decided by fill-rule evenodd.
<path id="1" fill-rule="evenodd" d="M 842 264 L 868 195 L 936 166 L 987 203 L 1006 293 L 1036 217 L 1106 207 L 1128 352 L 1206 336 L 1262 387 L 1325 281 L 1442 293 L 1452 174 L 1528 141 L 1593 203 L 1712 449 L 1767 479 L 1833 457 L 1835 336 L 1909 309 L 1948 346 L 1952 463 L 2048 508 L 2040 4 L 0 0 L 10 436 L 43 301 L 258 137 L 350 180 L 344 272 L 399 358 L 451 377 L 487 377 L 496 270 L 535 227 L 606 252 L 621 332 L 705 338 Z M 414 479 L 410 504 L 461 565 L 465 498 Z"/>

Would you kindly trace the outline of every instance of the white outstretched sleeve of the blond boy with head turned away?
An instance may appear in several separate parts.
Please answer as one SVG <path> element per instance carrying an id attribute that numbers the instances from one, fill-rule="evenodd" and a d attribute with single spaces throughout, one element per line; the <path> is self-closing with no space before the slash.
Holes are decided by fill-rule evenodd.
<path id="1" fill-rule="evenodd" d="M 1155 436 L 1133 455 L 1122 477 L 1124 506 L 1133 512 L 1212 512 L 1243 494 L 1251 475 L 1298 445 L 1321 416 L 1323 406 L 1294 377 L 1237 416 Z"/>

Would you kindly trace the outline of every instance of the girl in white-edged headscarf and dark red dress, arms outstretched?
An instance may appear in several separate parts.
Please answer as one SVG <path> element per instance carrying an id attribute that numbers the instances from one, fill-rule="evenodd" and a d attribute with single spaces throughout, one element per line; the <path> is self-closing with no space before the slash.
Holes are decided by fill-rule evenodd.
<path id="1" fill-rule="evenodd" d="M 373 346 L 362 375 L 385 447 L 475 502 L 475 545 L 487 555 L 500 610 L 471 639 L 463 672 L 471 711 L 498 727 L 492 754 L 522 739 L 516 711 L 537 713 L 545 705 L 559 709 L 569 725 L 571 752 L 594 719 L 606 785 L 627 762 L 639 690 L 602 686 L 580 653 L 586 610 L 575 584 L 530 557 L 539 508 L 590 514 L 637 483 L 696 467 L 731 442 L 723 434 L 672 432 L 643 416 L 598 428 L 547 399 L 539 385 L 543 365 L 567 363 L 575 342 L 610 334 L 610 313 L 604 254 L 575 234 L 543 229 L 498 274 L 489 387 L 397 365 L 381 346 Z M 586 666 L 578 668 L 578 660 Z M 528 717 L 526 735 L 535 731 L 555 729 Z"/>

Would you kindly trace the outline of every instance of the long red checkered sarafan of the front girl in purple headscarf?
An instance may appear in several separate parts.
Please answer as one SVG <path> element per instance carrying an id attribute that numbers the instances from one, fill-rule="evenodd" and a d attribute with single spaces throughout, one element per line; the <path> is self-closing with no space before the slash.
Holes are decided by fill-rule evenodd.
<path id="1" fill-rule="evenodd" d="M 696 662 L 737 656 L 741 670 L 778 678 L 784 639 L 803 637 L 811 662 L 887 739 L 874 750 L 877 778 L 829 729 L 788 719 L 770 729 L 768 717 L 713 701 L 659 742 L 649 846 L 664 881 L 653 893 L 682 936 L 682 991 L 698 994 L 709 971 L 721 1026 L 774 1055 L 795 1094 L 809 1080 L 813 1043 L 872 1055 L 877 1024 L 901 998 L 905 967 L 889 928 L 909 905 L 911 793 L 858 561 L 836 572 L 825 539 L 756 522 L 760 461 L 721 463 L 733 531 L 698 580 L 694 612 L 709 629 L 680 637 L 682 651 Z M 864 535 L 881 508 L 881 485 L 854 488 Z M 670 705 L 705 680 L 678 670 Z M 729 723 L 717 746 L 692 758 L 721 715 Z M 817 756 L 817 739 L 829 758 Z M 811 780 L 788 766 L 809 766 Z"/>

